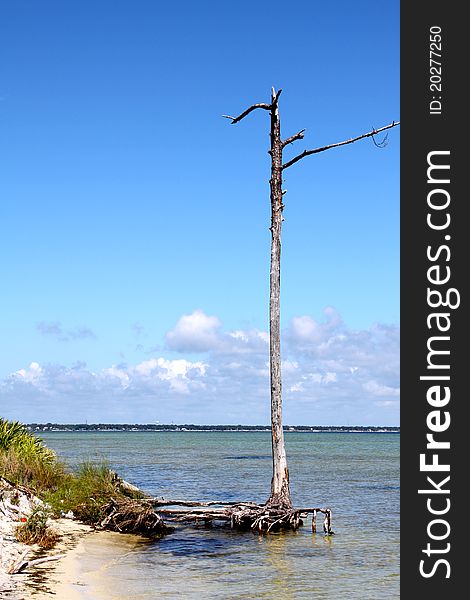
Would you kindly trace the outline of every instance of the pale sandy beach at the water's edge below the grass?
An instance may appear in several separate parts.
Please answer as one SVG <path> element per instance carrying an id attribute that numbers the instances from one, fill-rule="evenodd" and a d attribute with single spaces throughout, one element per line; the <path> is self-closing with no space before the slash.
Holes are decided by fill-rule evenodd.
<path id="1" fill-rule="evenodd" d="M 96 531 L 70 518 L 72 515 L 64 515 L 47 520 L 48 530 L 56 538 L 53 547 L 46 550 L 39 541 L 20 541 L 18 528 L 44 506 L 29 489 L 0 476 L 0 598 L 124 600 L 135 596 L 132 588 L 123 590 L 120 583 L 120 561 L 141 548 L 143 538 Z M 130 580 L 132 585 L 132 577 Z"/>

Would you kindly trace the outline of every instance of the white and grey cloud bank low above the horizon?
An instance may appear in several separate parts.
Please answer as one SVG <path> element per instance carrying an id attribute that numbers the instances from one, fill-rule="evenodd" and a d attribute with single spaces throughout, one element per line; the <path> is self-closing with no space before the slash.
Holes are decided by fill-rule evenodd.
<path id="1" fill-rule="evenodd" d="M 38 330 L 57 341 L 80 337 L 64 333 L 60 323 L 41 323 Z M 398 326 L 352 330 L 328 307 L 321 321 L 292 318 L 282 343 L 285 424 L 398 424 Z M 2 416 L 58 423 L 269 423 L 266 331 L 224 331 L 218 317 L 195 310 L 166 333 L 160 354 L 101 370 L 83 362 L 32 361 L 0 381 Z"/>

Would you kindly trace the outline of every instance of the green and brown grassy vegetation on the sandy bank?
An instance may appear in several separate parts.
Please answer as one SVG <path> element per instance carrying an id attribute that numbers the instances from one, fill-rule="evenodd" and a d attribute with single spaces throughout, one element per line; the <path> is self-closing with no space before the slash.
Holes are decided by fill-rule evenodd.
<path id="1" fill-rule="evenodd" d="M 72 511 L 80 521 L 98 525 L 111 501 L 142 497 L 124 487 L 106 463 L 87 462 L 73 472 L 24 425 L 5 419 L 0 419 L 0 475 L 43 501 L 17 528 L 17 538 L 44 548 L 57 540 L 47 526 L 50 517 Z"/>

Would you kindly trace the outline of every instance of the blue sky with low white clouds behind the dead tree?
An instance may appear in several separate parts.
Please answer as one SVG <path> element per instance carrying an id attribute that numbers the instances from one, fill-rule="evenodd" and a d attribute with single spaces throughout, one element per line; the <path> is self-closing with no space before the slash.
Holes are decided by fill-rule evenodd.
<path id="1" fill-rule="evenodd" d="M 268 115 L 398 120 L 399 3 L 3 3 L 0 412 L 267 423 Z M 397 424 L 399 128 L 285 172 L 289 423 Z"/>

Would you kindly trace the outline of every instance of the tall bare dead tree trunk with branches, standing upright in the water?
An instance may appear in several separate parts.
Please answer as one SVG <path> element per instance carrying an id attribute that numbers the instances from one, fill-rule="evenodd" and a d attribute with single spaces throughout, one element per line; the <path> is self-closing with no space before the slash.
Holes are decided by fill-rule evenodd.
<path id="1" fill-rule="evenodd" d="M 269 363 L 271 377 L 271 433 L 272 433 L 272 458 L 273 458 L 273 477 L 271 480 L 271 495 L 266 503 L 267 507 L 278 507 L 280 510 L 289 511 L 292 509 L 292 500 L 289 491 L 289 470 L 287 468 L 287 457 L 284 446 L 284 431 L 282 426 L 282 380 L 281 380 L 281 310 L 280 310 L 280 289 L 281 289 L 281 228 L 282 211 L 284 204 L 282 202 L 282 173 L 284 169 L 292 166 L 302 158 L 351 144 L 366 137 L 372 137 L 374 144 L 378 147 L 386 145 L 386 137 L 381 142 L 376 142 L 375 135 L 396 125 L 399 122 L 393 121 L 390 125 L 373 129 L 355 138 L 350 138 L 343 142 L 330 144 L 315 148 L 314 150 L 304 150 L 298 156 L 295 156 L 286 163 L 282 162 L 282 152 L 285 146 L 301 140 L 304 137 L 305 129 L 292 135 L 286 140 L 281 140 L 281 123 L 279 118 L 279 96 L 282 90 L 271 90 L 271 103 L 253 104 L 242 112 L 238 117 L 230 117 L 232 124 L 238 123 L 257 108 L 262 108 L 270 112 L 271 115 L 271 179 L 269 185 L 271 188 L 271 270 L 270 270 L 270 293 L 269 293 Z"/>

